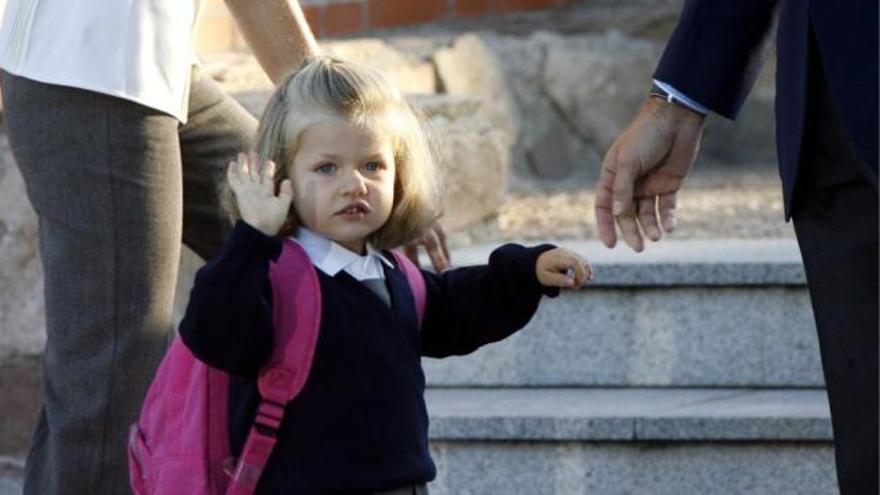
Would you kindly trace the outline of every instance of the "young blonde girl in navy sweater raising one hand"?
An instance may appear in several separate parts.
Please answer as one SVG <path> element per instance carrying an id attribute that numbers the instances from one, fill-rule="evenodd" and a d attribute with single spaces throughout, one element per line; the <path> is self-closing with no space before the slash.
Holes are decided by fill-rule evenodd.
<path id="1" fill-rule="evenodd" d="M 384 250 L 432 224 L 436 176 L 413 110 L 368 68 L 319 57 L 283 79 L 260 122 L 257 154 L 229 166 L 240 219 L 196 276 L 180 328 L 195 356 L 235 377 L 233 454 L 272 352 L 279 302 L 269 264 L 292 236 L 317 269 L 321 331 L 258 493 L 425 493 L 436 469 L 421 356 L 467 354 L 507 337 L 543 295 L 583 285 L 589 268 L 553 246 L 508 244 L 488 265 L 422 272 L 419 327 L 406 277 Z"/>

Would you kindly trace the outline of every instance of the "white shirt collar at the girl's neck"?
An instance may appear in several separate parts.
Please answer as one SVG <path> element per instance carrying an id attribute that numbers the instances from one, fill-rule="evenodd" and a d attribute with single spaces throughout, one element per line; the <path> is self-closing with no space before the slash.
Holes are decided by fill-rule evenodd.
<path id="1" fill-rule="evenodd" d="M 367 254 L 361 256 L 305 227 L 299 227 L 293 238 L 305 249 L 312 264 L 331 277 L 344 271 L 359 281 L 377 278 L 384 280 L 385 271 L 382 265 L 394 267 L 394 264 L 369 243 Z"/>

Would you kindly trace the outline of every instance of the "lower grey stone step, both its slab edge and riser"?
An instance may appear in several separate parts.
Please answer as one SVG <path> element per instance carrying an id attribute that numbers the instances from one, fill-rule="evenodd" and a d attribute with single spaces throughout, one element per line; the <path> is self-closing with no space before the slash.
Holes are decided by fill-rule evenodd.
<path id="1" fill-rule="evenodd" d="M 430 389 L 446 494 L 833 494 L 822 389 Z"/>

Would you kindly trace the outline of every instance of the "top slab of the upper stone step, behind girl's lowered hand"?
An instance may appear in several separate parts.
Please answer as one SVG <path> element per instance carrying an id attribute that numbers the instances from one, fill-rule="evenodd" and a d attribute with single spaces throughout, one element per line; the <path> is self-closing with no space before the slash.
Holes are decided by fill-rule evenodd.
<path id="1" fill-rule="evenodd" d="M 587 256 L 596 272 L 592 287 L 806 285 L 793 240 L 665 240 L 638 254 L 622 243 L 609 250 L 598 241 L 548 242 Z M 485 263 L 495 247 L 457 249 L 452 260 L 456 266 Z"/>

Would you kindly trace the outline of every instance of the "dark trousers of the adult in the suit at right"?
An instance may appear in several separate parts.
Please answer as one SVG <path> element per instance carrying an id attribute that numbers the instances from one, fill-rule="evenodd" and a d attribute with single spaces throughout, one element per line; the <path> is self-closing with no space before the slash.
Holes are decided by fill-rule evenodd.
<path id="1" fill-rule="evenodd" d="M 850 143 L 817 60 L 810 74 L 792 216 L 819 332 L 840 493 L 877 494 L 877 178 Z"/>

